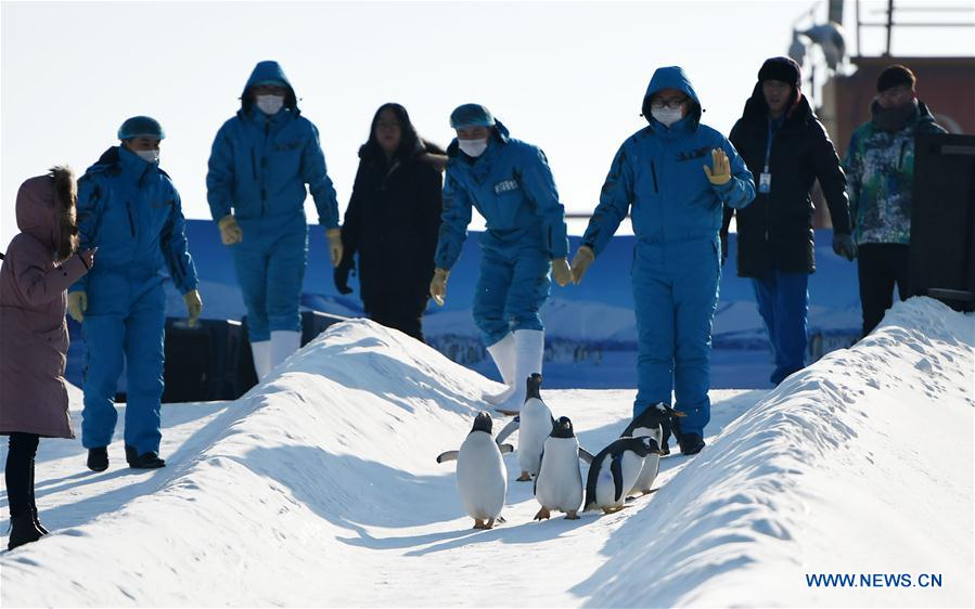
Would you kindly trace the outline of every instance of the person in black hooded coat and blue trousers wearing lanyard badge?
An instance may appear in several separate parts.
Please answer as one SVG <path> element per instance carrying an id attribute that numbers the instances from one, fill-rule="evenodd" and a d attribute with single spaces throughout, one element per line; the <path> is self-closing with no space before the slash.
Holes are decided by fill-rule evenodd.
<path id="1" fill-rule="evenodd" d="M 816 271 L 810 191 L 819 180 L 833 220 L 833 250 L 852 259 L 846 177 L 826 130 L 800 91 L 798 64 L 772 57 L 731 130 L 731 143 L 755 176 L 756 196 L 744 209 L 724 209 L 721 230 L 737 213 L 737 274 L 749 277 L 775 355 L 770 380 L 805 365 L 808 275 Z M 722 258 L 723 259 L 723 258 Z"/>

